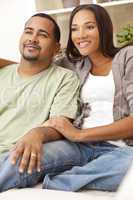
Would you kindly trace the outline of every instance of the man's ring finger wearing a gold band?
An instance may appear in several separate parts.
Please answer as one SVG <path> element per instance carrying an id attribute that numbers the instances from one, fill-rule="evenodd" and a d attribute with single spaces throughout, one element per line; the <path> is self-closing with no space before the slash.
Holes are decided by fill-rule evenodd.
<path id="1" fill-rule="evenodd" d="M 32 151 L 30 154 L 28 174 L 32 174 L 33 169 L 36 168 L 37 159 L 37 153 Z"/>

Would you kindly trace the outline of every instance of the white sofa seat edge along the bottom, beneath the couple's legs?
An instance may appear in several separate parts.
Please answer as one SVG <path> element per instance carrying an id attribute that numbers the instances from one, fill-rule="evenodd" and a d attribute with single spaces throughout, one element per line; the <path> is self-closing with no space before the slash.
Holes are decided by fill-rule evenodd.
<path id="1" fill-rule="evenodd" d="M 115 193 L 101 191 L 64 192 L 35 188 L 12 189 L 0 194 L 0 200 L 113 200 Z"/>

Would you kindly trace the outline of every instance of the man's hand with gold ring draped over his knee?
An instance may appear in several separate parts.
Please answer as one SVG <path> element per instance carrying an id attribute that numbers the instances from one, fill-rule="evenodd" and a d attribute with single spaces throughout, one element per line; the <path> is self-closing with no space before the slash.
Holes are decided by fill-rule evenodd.
<path id="1" fill-rule="evenodd" d="M 15 144 L 11 151 L 11 163 L 15 165 L 20 159 L 19 171 L 21 173 L 27 169 L 28 173 L 32 174 L 35 168 L 38 172 L 40 171 L 42 135 L 44 135 L 44 131 L 41 127 L 32 129 Z"/>

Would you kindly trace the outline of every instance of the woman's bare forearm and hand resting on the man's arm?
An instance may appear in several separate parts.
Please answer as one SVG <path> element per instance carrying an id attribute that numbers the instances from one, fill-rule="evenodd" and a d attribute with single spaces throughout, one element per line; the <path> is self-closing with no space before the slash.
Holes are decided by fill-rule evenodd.
<path id="1" fill-rule="evenodd" d="M 75 128 L 64 117 L 50 119 L 44 126 L 55 128 L 73 142 L 118 140 L 133 137 L 133 117 L 126 117 L 106 126 L 82 130 Z"/>

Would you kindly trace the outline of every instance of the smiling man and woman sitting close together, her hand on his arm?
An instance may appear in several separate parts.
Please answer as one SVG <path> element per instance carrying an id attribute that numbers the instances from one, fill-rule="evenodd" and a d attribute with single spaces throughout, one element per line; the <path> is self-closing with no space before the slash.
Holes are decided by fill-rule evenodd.
<path id="1" fill-rule="evenodd" d="M 2 135 L 3 152 L 7 137 L 15 145 L 0 157 L 1 192 L 40 181 L 48 189 L 114 191 L 133 160 L 133 46 L 114 47 L 112 22 L 98 5 L 76 7 L 69 29 L 67 57 L 57 63 L 73 69 L 80 79 L 81 109 L 74 126 L 67 118 L 76 115 L 78 80 L 74 72 L 51 65 L 60 38 L 51 17 L 36 14 L 28 20 L 18 68 L 0 70 L 5 84 L 19 84 L 17 97 L 28 88 L 33 100 L 27 98 L 27 108 L 21 108 L 20 101 L 20 118 L 17 111 L 16 118 L 8 111 L 11 125 L 16 119 L 18 126 L 17 133 L 10 129 L 12 134 Z"/>

